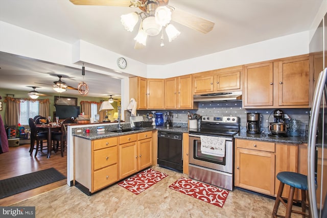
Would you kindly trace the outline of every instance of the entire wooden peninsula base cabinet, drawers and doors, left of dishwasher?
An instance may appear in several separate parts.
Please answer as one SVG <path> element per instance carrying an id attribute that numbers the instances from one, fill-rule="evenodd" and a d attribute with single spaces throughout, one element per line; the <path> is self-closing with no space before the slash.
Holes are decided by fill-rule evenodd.
<path id="1" fill-rule="evenodd" d="M 74 137 L 74 182 L 87 195 L 152 165 L 152 131 L 96 140 Z"/>

